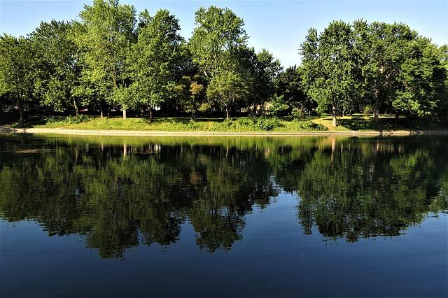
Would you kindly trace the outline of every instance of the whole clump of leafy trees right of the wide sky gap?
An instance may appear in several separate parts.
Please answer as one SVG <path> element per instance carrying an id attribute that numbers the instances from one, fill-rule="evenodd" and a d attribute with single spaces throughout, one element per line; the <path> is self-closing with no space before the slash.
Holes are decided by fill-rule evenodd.
<path id="1" fill-rule="evenodd" d="M 424 117 L 445 116 L 447 45 L 437 47 L 405 24 L 332 22 L 302 44 L 302 86 L 320 111 L 337 115 L 371 106 Z"/>

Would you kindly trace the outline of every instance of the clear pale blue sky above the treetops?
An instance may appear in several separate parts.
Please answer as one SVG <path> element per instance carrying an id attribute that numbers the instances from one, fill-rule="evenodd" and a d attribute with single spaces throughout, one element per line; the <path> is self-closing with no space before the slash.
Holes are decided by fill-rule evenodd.
<path id="1" fill-rule="evenodd" d="M 0 0 L 0 32 L 25 36 L 42 21 L 73 20 L 84 1 L 5 1 Z M 148 8 L 169 9 L 181 24 L 181 34 L 191 36 L 194 13 L 200 6 L 231 8 L 246 23 L 249 45 L 255 50 L 267 48 L 283 64 L 300 64 L 298 48 L 309 27 L 321 31 L 332 20 L 352 22 L 405 22 L 434 43 L 448 43 L 448 0 L 426 1 L 125 1 L 137 12 Z"/>

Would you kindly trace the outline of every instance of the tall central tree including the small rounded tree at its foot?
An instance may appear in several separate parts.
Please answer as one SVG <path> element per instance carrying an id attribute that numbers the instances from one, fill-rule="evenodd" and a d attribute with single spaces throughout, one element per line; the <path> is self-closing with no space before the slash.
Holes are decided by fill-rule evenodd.
<path id="1" fill-rule="evenodd" d="M 229 118 L 230 111 L 248 99 L 255 81 L 255 52 L 246 45 L 244 21 L 232 10 L 210 6 L 195 15 L 197 27 L 189 42 L 193 62 L 209 83 L 211 106 Z"/>

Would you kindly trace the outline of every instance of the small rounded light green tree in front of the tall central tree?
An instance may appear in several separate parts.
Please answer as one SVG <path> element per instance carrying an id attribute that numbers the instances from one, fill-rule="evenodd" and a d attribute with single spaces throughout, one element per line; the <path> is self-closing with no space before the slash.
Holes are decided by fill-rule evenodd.
<path id="1" fill-rule="evenodd" d="M 225 111 L 226 119 L 229 119 L 232 108 L 246 96 L 247 87 L 243 78 L 239 76 L 239 73 L 232 71 L 223 71 L 214 76 L 207 88 L 207 97 L 216 101 L 221 110 Z"/>

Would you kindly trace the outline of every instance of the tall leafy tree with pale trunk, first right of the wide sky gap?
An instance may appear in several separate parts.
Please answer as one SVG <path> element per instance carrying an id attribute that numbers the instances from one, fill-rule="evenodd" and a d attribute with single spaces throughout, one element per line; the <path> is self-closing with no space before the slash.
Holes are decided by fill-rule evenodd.
<path id="1" fill-rule="evenodd" d="M 319 36 L 315 29 L 310 29 L 301 53 L 304 88 L 317 102 L 318 111 L 331 106 L 335 127 L 337 116 L 353 108 L 355 96 L 351 26 L 342 21 L 331 22 Z"/>

